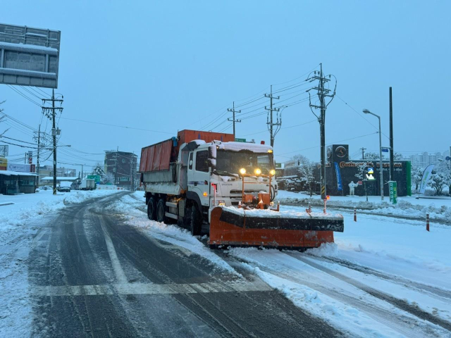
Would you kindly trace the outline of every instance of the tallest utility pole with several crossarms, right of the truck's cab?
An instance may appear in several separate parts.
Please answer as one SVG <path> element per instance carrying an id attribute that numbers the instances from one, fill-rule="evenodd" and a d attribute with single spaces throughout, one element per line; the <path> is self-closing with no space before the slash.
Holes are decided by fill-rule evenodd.
<path id="1" fill-rule="evenodd" d="M 321 199 L 326 201 L 326 108 L 332 102 L 333 97 L 335 96 L 335 90 L 337 89 L 337 79 L 335 78 L 335 88 L 333 89 L 333 94 L 330 93 L 330 89 L 324 88 L 324 84 L 330 81 L 330 77 L 335 77 L 334 75 L 326 75 L 323 74 L 323 64 L 320 63 L 320 70 L 315 70 L 314 75 L 307 78 L 307 81 L 313 82 L 318 80 L 318 86 L 307 89 L 309 93 L 309 104 L 311 112 L 314 113 L 312 108 L 320 109 L 321 114 L 318 116 L 314 113 L 319 122 L 319 134 L 321 139 Z M 311 74 L 311 73 L 310 73 Z M 316 89 L 317 95 L 319 98 L 319 106 L 311 104 L 311 89 Z M 326 103 L 326 98 L 330 98 L 330 100 Z M 325 202 L 326 203 L 326 202 Z"/>

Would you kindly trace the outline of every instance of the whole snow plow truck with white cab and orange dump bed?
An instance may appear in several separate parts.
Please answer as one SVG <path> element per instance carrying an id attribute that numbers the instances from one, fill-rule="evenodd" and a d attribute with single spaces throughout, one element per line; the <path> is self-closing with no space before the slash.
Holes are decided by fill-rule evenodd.
<path id="1" fill-rule="evenodd" d="M 150 220 L 173 220 L 209 246 L 307 249 L 333 242 L 342 215 L 280 211 L 273 149 L 233 134 L 182 130 L 142 148 L 141 184 Z M 263 142 L 262 142 L 263 143 Z"/>

